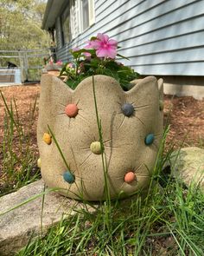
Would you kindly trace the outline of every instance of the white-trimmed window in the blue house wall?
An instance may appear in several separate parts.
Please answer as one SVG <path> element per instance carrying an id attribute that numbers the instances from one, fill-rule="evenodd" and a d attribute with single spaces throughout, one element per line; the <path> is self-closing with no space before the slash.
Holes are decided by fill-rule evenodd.
<path id="1" fill-rule="evenodd" d="M 95 22 L 94 0 L 70 0 L 61 22 L 63 43 L 70 42 Z"/>

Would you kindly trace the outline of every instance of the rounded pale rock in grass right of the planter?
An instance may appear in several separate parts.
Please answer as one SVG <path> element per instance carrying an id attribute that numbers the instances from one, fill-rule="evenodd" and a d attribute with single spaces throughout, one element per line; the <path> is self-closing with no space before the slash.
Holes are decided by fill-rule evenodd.
<path id="1" fill-rule="evenodd" d="M 169 161 L 171 172 L 187 186 L 192 182 L 204 192 L 204 149 L 182 148 L 171 154 Z"/>

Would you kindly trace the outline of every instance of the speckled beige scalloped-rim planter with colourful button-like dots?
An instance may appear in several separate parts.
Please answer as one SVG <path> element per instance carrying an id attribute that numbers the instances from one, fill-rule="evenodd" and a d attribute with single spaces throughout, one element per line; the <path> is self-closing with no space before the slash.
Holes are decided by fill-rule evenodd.
<path id="1" fill-rule="evenodd" d="M 109 76 L 96 75 L 94 81 L 111 197 L 128 196 L 150 184 L 163 135 L 163 81 L 136 80 L 128 92 Z M 37 139 L 48 187 L 61 187 L 61 194 L 74 199 L 104 199 L 92 77 L 73 91 L 59 78 L 42 75 Z"/>

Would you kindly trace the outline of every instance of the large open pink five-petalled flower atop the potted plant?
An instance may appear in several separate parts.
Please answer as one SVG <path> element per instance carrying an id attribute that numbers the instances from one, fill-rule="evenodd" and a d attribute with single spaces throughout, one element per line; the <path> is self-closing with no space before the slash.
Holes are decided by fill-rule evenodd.
<path id="1" fill-rule="evenodd" d="M 97 39 L 92 41 L 92 47 L 96 49 L 98 57 L 110 57 L 114 59 L 117 56 L 118 42 L 109 39 L 109 36 L 99 33 Z"/>

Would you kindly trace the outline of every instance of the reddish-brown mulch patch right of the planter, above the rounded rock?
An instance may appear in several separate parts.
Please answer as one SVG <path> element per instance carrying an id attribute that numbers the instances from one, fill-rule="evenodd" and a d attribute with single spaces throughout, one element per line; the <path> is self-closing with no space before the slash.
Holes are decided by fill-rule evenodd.
<path id="1" fill-rule="evenodd" d="M 167 148 L 204 147 L 204 100 L 164 95 L 164 123 L 169 123 Z"/>

